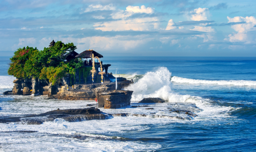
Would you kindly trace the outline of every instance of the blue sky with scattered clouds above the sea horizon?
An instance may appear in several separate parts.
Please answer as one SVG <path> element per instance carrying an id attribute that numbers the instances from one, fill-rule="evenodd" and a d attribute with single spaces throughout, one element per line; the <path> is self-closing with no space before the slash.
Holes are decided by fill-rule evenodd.
<path id="1" fill-rule="evenodd" d="M 255 0 L 0 0 L 0 51 L 256 56 Z"/>

